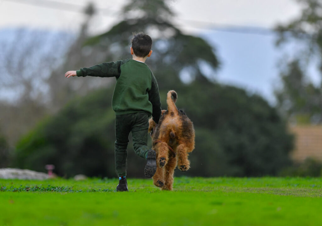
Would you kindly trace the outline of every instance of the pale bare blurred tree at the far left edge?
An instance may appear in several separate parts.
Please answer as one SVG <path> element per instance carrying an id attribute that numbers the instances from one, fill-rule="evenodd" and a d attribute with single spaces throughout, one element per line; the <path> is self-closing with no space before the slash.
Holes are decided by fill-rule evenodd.
<path id="1" fill-rule="evenodd" d="M 9 34 L 12 40 L 0 42 L 0 90 L 9 99 L 0 100 L 0 128 L 13 146 L 48 113 L 47 79 L 70 37 L 64 32 L 24 28 Z"/>

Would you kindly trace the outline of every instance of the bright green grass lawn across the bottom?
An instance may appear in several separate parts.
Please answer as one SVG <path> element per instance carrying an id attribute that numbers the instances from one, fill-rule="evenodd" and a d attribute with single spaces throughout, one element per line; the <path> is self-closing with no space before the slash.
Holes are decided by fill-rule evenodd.
<path id="1" fill-rule="evenodd" d="M 319 225 L 320 178 L 0 179 L 1 225 Z"/>

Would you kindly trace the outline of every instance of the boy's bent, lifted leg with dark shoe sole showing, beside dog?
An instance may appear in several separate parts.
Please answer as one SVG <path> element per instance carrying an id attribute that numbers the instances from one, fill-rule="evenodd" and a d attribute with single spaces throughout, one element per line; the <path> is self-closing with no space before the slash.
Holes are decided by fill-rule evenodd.
<path id="1" fill-rule="evenodd" d="M 132 138 L 134 152 L 147 159 L 144 168 L 146 177 L 152 177 L 156 172 L 156 152 L 147 147 L 147 131 L 149 128 L 149 116 L 147 113 L 136 113 L 133 118 Z"/>

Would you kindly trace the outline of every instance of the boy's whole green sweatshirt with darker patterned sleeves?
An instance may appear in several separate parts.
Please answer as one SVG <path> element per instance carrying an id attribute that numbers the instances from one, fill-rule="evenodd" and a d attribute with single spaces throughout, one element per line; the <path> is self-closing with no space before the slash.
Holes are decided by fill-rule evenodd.
<path id="1" fill-rule="evenodd" d="M 116 114 L 147 112 L 158 123 L 161 116 L 159 88 L 150 68 L 133 59 L 81 68 L 77 76 L 116 77 L 112 108 Z"/>

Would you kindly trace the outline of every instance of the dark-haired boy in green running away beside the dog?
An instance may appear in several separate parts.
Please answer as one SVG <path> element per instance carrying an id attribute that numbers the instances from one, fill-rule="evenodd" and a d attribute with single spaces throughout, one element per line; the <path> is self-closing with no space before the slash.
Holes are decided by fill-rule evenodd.
<path id="1" fill-rule="evenodd" d="M 147 147 L 148 119 L 152 114 L 158 123 L 161 115 L 159 89 L 145 61 L 152 54 L 152 39 L 144 33 L 134 34 L 131 41 L 132 59 L 102 63 L 77 71 L 67 71 L 65 77 L 116 77 L 112 98 L 115 120 L 115 166 L 119 177 L 117 191 L 128 191 L 126 181 L 128 135 L 132 132 L 135 153 L 147 159 L 146 177 L 156 172 L 156 152 Z"/>

